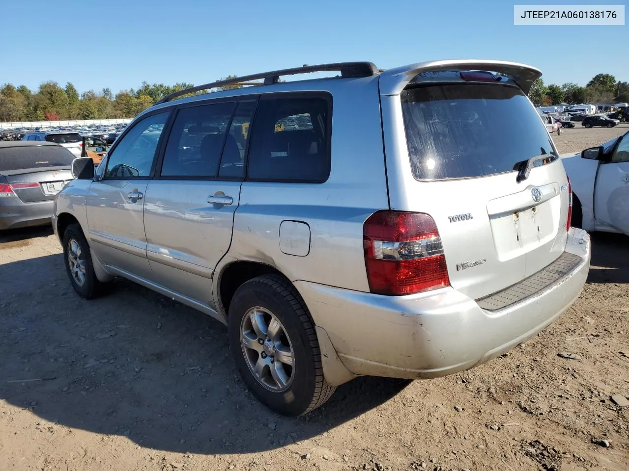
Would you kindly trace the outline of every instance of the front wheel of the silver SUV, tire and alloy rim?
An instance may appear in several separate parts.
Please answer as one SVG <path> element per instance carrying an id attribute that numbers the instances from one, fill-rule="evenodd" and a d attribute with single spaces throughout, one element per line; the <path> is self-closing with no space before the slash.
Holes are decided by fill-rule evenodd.
<path id="1" fill-rule="evenodd" d="M 96 278 L 89 244 L 79 224 L 70 224 L 65 228 L 64 264 L 72 288 L 86 300 L 103 295 L 109 286 L 109 283 Z"/>

